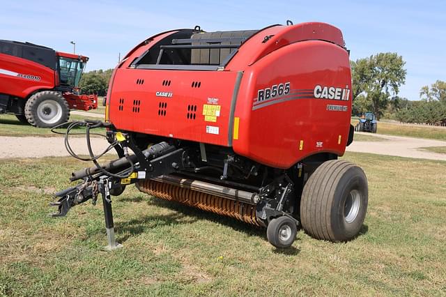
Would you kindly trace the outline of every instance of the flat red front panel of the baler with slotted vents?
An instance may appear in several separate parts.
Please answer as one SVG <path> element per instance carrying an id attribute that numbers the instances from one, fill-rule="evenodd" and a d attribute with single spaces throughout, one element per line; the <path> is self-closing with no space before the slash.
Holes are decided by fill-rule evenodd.
<path id="1" fill-rule="evenodd" d="M 119 130 L 228 146 L 236 76 L 226 71 L 119 68 L 109 120 Z"/>

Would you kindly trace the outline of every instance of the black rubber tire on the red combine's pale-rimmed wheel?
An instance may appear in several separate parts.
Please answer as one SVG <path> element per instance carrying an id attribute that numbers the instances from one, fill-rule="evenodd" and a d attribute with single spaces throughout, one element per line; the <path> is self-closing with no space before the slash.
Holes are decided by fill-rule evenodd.
<path id="1" fill-rule="evenodd" d="M 49 102 L 51 102 L 55 107 L 60 108 L 60 118 L 58 116 L 59 119 L 56 121 L 52 121 L 51 119 L 45 120 L 39 115 L 39 105 L 47 100 L 49 100 Z M 55 125 L 65 123 L 68 121 L 68 119 L 70 119 L 70 107 L 68 107 L 68 103 L 66 102 L 65 98 L 63 98 L 61 93 L 56 91 L 42 91 L 35 93 L 26 101 L 25 116 L 28 122 L 33 126 L 40 128 L 52 128 Z"/>

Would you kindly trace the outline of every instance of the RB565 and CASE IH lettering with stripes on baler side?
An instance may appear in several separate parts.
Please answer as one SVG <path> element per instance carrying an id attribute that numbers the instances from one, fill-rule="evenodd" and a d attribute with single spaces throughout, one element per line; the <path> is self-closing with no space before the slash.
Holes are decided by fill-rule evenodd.
<path id="1" fill-rule="evenodd" d="M 345 88 L 339 88 L 336 86 L 321 86 L 316 84 L 314 89 L 291 90 L 291 84 L 289 82 L 284 84 L 275 84 L 270 88 L 260 89 L 257 91 L 257 98 L 254 98 L 253 100 L 252 110 L 289 100 L 314 98 L 348 101 L 350 98 L 350 89 L 348 88 L 348 85 Z M 330 105 L 327 107 L 327 110 L 344 112 L 348 110 L 348 108 L 339 108 Z"/>

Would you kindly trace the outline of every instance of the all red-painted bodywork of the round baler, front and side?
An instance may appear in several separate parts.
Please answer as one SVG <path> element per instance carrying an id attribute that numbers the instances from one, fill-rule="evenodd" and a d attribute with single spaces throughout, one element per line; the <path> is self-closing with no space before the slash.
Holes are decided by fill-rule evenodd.
<path id="1" fill-rule="evenodd" d="M 162 38 L 176 32 L 162 33 L 150 38 L 149 43 L 141 43 L 115 69 L 107 104 L 109 121 L 118 130 L 229 146 L 233 89 L 238 71 L 243 71 L 234 114 L 240 118 L 240 129 L 238 139 L 231 139 L 236 153 L 279 168 L 289 168 L 319 152 L 344 154 L 350 127 L 351 93 L 348 100 L 313 96 L 316 85 L 351 89 L 348 52 L 339 29 L 315 22 L 272 26 L 245 41 L 223 71 L 129 67 Z M 265 36 L 270 39 L 263 43 Z M 144 83 L 137 84 L 141 79 Z M 171 84 L 163 86 L 164 80 Z M 201 82 L 201 87 L 192 88 L 193 82 Z M 285 82 L 290 82 L 295 93 L 309 91 L 301 96 L 304 98 L 286 100 L 293 96 L 285 96 L 282 101 L 253 110 L 259 89 Z M 161 98 L 156 92 L 173 95 Z M 204 121 L 202 115 L 208 98 L 217 98 L 221 105 L 216 123 Z M 190 105 L 197 105 L 196 119 L 187 119 Z M 346 111 L 329 111 L 327 105 L 344 107 Z M 218 127 L 219 135 L 206 133 L 206 125 Z"/>

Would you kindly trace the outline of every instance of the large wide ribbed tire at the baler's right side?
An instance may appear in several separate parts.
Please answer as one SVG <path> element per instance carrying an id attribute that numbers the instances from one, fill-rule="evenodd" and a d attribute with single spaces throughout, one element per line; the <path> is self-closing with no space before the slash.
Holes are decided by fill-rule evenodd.
<path id="1" fill-rule="evenodd" d="M 352 203 L 357 207 L 348 208 L 351 201 L 359 201 L 359 206 Z M 302 228 L 317 239 L 349 241 L 362 228 L 368 201 L 367 177 L 360 167 L 343 160 L 323 162 L 308 178 L 302 191 Z M 346 215 L 346 208 L 353 209 L 355 216 L 350 217 L 351 212 Z"/>

